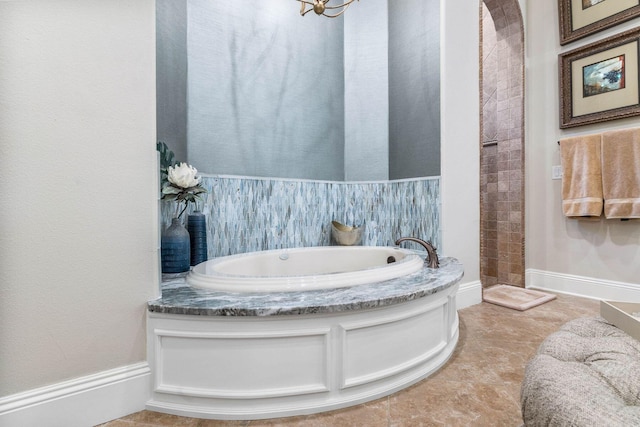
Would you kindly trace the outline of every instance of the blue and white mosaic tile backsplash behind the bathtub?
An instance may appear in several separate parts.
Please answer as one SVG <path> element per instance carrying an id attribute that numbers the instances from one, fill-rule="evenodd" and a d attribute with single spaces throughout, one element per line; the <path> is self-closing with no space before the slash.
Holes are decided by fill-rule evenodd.
<path id="1" fill-rule="evenodd" d="M 350 183 L 204 175 L 202 185 L 208 191 L 199 208 L 207 221 L 209 259 L 328 246 L 333 220 L 364 224 L 362 245 L 391 246 L 412 236 L 440 247 L 439 177 Z M 175 205 L 163 202 L 163 229 L 174 214 Z"/>

